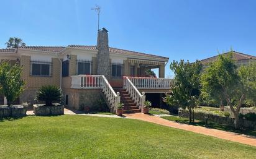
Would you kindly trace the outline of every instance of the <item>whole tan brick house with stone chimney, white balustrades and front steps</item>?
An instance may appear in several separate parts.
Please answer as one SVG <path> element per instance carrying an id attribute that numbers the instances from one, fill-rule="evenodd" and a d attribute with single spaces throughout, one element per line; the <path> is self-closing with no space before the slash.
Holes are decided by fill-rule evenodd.
<path id="1" fill-rule="evenodd" d="M 105 28 L 98 31 L 96 46 L 22 46 L 0 49 L 0 59 L 23 66 L 26 87 L 20 103 L 33 104 L 42 85 L 57 85 L 71 108 L 83 110 L 104 98 L 111 110 L 122 102 L 126 112 L 138 112 L 145 94 L 158 93 L 161 100 L 171 85 L 164 79 L 168 58 L 111 48 Z M 159 78 L 145 77 L 147 69 L 155 68 Z"/>

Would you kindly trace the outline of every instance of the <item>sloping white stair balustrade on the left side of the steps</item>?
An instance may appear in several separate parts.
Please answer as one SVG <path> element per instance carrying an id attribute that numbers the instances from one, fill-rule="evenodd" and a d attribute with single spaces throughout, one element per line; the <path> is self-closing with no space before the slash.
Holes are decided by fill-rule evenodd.
<path id="1" fill-rule="evenodd" d="M 120 103 L 120 93 L 116 93 L 114 91 L 104 75 L 102 75 L 101 79 L 101 88 L 103 89 L 103 93 L 106 95 L 107 101 L 109 101 L 109 104 L 111 105 L 112 111 L 114 111 L 117 104 Z"/>

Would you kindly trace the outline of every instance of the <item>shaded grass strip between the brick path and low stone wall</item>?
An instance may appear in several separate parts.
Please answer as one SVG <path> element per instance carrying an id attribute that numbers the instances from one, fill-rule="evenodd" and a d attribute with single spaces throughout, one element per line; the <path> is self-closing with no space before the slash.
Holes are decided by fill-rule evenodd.
<path id="1" fill-rule="evenodd" d="M 180 118 L 178 116 L 163 116 L 163 119 L 167 119 L 169 121 L 176 121 L 176 122 L 181 122 L 184 124 L 193 124 L 195 126 L 205 126 L 204 121 L 199 121 L 195 120 L 194 123 L 190 123 L 188 118 Z M 219 129 L 222 131 L 229 131 L 229 132 L 237 132 L 240 134 L 247 134 L 247 135 L 253 135 L 256 136 L 256 130 L 252 129 L 245 129 L 245 130 L 235 130 L 234 127 L 232 126 L 227 126 L 226 124 L 217 124 L 215 122 L 208 122 L 207 127 L 212 128 L 212 129 Z"/>

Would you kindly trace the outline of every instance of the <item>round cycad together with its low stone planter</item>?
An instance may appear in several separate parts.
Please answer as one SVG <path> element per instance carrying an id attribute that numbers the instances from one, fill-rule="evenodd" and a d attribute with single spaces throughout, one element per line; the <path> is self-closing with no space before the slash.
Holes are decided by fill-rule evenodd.
<path id="1" fill-rule="evenodd" d="M 48 116 L 64 114 L 64 106 L 59 104 L 61 99 L 62 91 L 60 88 L 55 85 L 43 85 L 37 91 L 35 100 L 45 101 L 45 104 L 33 105 L 35 115 Z"/>

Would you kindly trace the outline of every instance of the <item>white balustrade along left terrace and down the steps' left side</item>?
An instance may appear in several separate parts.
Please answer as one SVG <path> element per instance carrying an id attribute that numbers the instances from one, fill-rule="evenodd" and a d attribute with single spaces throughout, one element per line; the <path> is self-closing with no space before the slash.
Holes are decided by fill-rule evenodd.
<path id="1" fill-rule="evenodd" d="M 104 75 L 72 75 L 71 88 L 102 89 L 111 108 L 116 108 L 116 105 L 120 103 L 119 92 L 114 92 Z"/>

